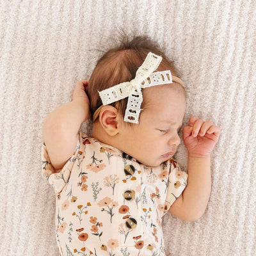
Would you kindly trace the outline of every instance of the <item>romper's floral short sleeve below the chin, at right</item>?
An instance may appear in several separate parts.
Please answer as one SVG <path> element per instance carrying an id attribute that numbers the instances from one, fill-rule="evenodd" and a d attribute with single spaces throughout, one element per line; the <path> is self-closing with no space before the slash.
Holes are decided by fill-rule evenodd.
<path id="1" fill-rule="evenodd" d="M 168 177 L 168 189 L 166 193 L 164 214 L 181 195 L 187 186 L 188 174 L 180 170 L 179 164 L 174 159 L 170 160 L 170 173 Z"/>

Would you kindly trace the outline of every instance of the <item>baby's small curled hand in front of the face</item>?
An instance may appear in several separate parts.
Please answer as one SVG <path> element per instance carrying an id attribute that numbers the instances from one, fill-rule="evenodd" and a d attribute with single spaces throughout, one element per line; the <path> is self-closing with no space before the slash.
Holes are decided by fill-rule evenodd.
<path id="1" fill-rule="evenodd" d="M 197 116 L 189 118 L 189 126 L 183 129 L 183 140 L 189 156 L 209 157 L 220 138 L 220 127 L 211 121 L 202 121 Z"/>

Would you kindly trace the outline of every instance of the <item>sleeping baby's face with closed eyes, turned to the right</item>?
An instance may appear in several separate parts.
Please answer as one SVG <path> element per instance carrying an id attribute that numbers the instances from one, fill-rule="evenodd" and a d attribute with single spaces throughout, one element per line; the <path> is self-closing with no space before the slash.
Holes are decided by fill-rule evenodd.
<path id="1" fill-rule="evenodd" d="M 120 148 L 147 166 L 158 166 L 170 159 L 180 144 L 178 135 L 186 110 L 183 92 L 170 86 L 143 89 L 147 97 L 139 125 L 122 125 Z M 147 91 L 146 91 L 147 90 Z"/>

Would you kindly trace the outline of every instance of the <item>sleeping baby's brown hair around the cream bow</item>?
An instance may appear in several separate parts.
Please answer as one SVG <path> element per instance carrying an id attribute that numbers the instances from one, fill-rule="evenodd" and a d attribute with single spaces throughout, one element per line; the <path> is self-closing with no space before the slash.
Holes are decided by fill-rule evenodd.
<path id="1" fill-rule="evenodd" d="M 131 81 L 145 60 L 148 52 L 153 52 L 163 57 L 157 70 L 162 71 L 168 69 L 171 70 L 173 76 L 177 76 L 177 70 L 172 61 L 159 49 L 159 45 L 147 36 L 134 36 L 132 40 L 129 40 L 127 35 L 123 35 L 119 45 L 109 49 L 100 57 L 90 77 L 88 97 L 90 98 L 92 115 L 102 105 L 98 91 L 100 92 L 119 83 Z M 113 102 L 110 105 L 118 108 L 118 111 L 124 116 L 127 98 L 120 100 L 118 104 Z"/>

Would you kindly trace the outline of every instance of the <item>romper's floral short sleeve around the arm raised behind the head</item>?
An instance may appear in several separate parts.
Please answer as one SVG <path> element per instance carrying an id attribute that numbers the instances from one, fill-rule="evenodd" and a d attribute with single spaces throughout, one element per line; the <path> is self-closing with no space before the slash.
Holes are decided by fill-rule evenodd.
<path id="1" fill-rule="evenodd" d="M 63 166 L 61 170 L 55 170 L 49 159 L 47 148 L 42 146 L 42 176 L 48 180 L 49 184 L 54 187 L 56 193 L 60 193 L 64 186 L 67 184 L 70 177 L 71 170 L 76 160 L 77 153 L 79 152 L 80 141 L 79 136 L 77 136 L 76 150 L 72 157 L 68 159 L 67 163 Z"/>

